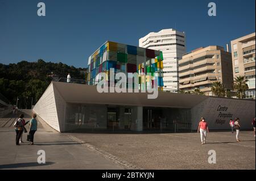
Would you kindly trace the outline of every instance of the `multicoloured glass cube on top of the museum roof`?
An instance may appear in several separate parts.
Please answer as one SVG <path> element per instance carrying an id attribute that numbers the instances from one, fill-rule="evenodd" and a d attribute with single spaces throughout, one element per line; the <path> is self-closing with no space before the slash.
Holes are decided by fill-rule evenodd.
<path id="1" fill-rule="evenodd" d="M 99 73 L 106 73 L 109 81 L 110 69 L 114 73 L 138 73 L 139 77 L 150 73 L 151 79 L 147 78 L 146 82 L 139 82 L 139 89 L 144 90 L 144 86 L 150 86 L 154 83 L 155 76 L 158 76 L 159 90 L 163 89 L 163 53 L 131 45 L 114 43 L 107 41 L 88 60 L 88 85 L 97 85 Z M 155 75 L 154 75 L 155 73 Z M 150 82 L 150 80 L 152 82 Z M 127 81 L 128 82 L 128 81 Z"/>

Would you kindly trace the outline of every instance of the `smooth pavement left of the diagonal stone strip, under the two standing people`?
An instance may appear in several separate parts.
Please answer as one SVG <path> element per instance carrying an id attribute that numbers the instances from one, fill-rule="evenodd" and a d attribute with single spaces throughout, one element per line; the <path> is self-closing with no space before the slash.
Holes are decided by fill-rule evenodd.
<path id="1" fill-rule="evenodd" d="M 0 169 L 125 169 L 40 123 L 35 133 L 35 145 L 28 145 L 27 134 L 24 133 L 24 144 L 16 146 L 12 126 L 16 116 L 10 114 L 0 118 Z M 25 120 L 30 117 L 25 115 Z M 38 150 L 46 152 L 46 164 L 38 164 Z"/>

